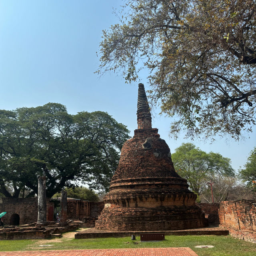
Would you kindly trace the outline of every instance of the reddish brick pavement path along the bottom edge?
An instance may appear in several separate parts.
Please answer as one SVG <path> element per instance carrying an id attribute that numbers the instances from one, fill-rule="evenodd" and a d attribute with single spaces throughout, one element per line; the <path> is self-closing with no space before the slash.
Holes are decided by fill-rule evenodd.
<path id="1" fill-rule="evenodd" d="M 198 256 L 188 247 L 0 252 L 0 256 Z"/>

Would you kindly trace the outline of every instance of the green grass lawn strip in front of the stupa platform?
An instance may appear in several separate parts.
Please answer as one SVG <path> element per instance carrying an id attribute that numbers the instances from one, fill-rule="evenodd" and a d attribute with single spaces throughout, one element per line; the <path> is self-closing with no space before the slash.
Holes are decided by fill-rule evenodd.
<path id="1" fill-rule="evenodd" d="M 66 233 L 68 234 L 68 233 Z M 71 233 L 70 233 L 71 234 Z M 16 250 L 69 250 L 102 248 L 146 248 L 146 247 L 190 247 L 199 256 L 255 256 L 256 244 L 233 238 L 232 236 L 165 236 L 161 242 L 139 242 L 125 238 L 74 239 L 31 239 L 0 241 L 0 251 Z M 53 244 L 52 247 L 38 247 L 40 244 Z M 194 248 L 197 245 L 213 245 L 214 248 Z"/>

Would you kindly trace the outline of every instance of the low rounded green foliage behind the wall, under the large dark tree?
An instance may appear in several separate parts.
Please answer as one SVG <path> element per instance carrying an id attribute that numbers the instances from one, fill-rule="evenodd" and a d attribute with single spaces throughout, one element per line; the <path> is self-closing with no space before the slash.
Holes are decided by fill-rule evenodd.
<path id="1" fill-rule="evenodd" d="M 99 201 L 98 195 L 93 190 L 90 190 L 85 187 L 65 188 L 65 191 L 67 192 L 67 196 L 70 198 L 88 200 L 91 202 Z M 56 198 L 60 196 L 61 196 L 61 193 L 56 193 L 52 197 Z"/>

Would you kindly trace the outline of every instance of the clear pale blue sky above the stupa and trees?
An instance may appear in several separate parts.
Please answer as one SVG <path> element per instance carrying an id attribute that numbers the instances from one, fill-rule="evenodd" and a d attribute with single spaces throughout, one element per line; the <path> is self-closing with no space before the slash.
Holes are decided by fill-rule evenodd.
<path id="1" fill-rule="evenodd" d="M 102 30 L 118 23 L 112 7 L 121 4 L 121 0 L 0 0 L 0 109 L 57 102 L 70 114 L 106 111 L 127 125 L 133 136 L 139 81 L 125 84 L 116 74 L 94 74 Z M 147 89 L 145 73 L 140 82 Z M 158 112 L 152 124 L 171 152 L 182 142 L 191 142 L 182 134 L 178 140 L 170 138 L 170 118 Z M 256 128 L 241 142 L 192 143 L 231 158 L 238 170 L 256 146 Z"/>

